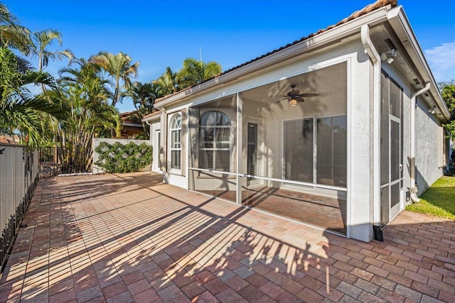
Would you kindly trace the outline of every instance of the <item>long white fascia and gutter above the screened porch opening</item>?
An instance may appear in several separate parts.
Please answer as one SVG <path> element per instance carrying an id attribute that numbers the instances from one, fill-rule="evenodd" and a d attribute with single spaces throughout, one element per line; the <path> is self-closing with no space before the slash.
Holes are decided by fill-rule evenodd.
<path id="1" fill-rule="evenodd" d="M 347 38 L 350 35 L 360 33 L 360 28 L 361 26 L 363 26 L 363 24 L 375 26 L 376 24 L 382 23 L 384 21 L 387 21 L 387 9 L 385 7 L 368 13 L 365 16 L 355 18 L 352 21 L 344 23 L 340 26 L 336 26 L 335 28 L 331 28 L 328 31 L 325 31 L 323 33 L 315 35 L 314 37 L 306 39 L 301 43 L 296 43 L 295 45 L 291 45 L 288 48 L 279 50 L 277 53 L 273 53 L 271 55 L 268 55 L 267 57 L 263 57 L 248 65 L 239 67 L 237 70 L 232 70 L 232 72 L 228 72 L 225 75 L 221 75 L 220 77 L 212 79 L 208 82 L 204 82 L 196 87 L 187 89 L 181 92 L 180 94 L 176 94 L 172 97 L 169 97 L 168 99 L 157 102 L 156 104 L 154 104 L 154 106 L 156 106 L 156 108 L 163 108 L 164 106 L 173 104 L 176 101 L 181 101 L 186 97 L 190 97 L 193 94 L 203 92 L 206 89 L 210 89 L 220 84 L 232 82 L 235 79 L 238 79 L 239 77 L 248 75 L 257 70 L 261 70 L 264 67 L 274 65 L 284 60 L 288 60 L 291 57 L 295 57 L 303 53 L 310 53 L 312 51 L 319 50 L 320 48 L 323 48 L 326 45 L 336 43 L 338 40 Z"/>

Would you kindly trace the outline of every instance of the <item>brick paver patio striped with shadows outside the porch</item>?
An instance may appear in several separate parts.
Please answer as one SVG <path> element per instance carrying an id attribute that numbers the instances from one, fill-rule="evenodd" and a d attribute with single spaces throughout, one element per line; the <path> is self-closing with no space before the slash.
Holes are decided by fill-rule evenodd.
<path id="1" fill-rule="evenodd" d="M 363 243 L 160 180 L 41 180 L 0 302 L 455 302 L 454 221 Z"/>

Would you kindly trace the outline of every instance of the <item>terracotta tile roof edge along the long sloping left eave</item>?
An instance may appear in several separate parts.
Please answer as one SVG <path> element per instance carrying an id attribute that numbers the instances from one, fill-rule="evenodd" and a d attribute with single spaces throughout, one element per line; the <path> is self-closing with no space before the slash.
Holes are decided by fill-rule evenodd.
<path id="1" fill-rule="evenodd" d="M 264 54 L 264 55 L 261 55 L 259 57 L 256 57 L 255 59 L 252 59 L 250 61 L 242 63 L 241 65 L 237 65 L 236 67 L 232 67 L 230 70 L 226 70 L 225 72 L 222 72 L 220 75 L 216 75 L 215 77 L 207 79 L 207 80 L 205 80 L 205 81 L 203 81 L 203 82 L 201 82 L 199 84 L 193 85 L 192 87 L 187 87 L 187 88 L 182 89 L 182 90 L 180 90 L 178 92 L 175 92 L 173 94 L 168 94 L 167 96 L 164 96 L 164 97 L 161 97 L 159 99 L 156 99 L 155 102 L 163 101 L 163 100 L 168 99 L 169 97 L 172 97 L 172 96 L 174 96 L 176 94 L 180 94 L 181 92 L 185 92 L 186 90 L 189 90 L 189 89 L 191 89 L 193 87 L 196 87 L 197 85 L 200 85 L 202 83 L 208 82 L 211 79 L 215 79 L 217 77 L 220 77 L 221 75 L 228 74 L 228 72 L 232 72 L 233 70 L 238 70 L 240 67 L 244 67 L 245 65 L 249 65 L 252 62 L 256 62 L 257 60 L 260 60 L 260 59 L 262 59 L 264 57 L 267 57 L 267 56 L 272 55 L 274 53 L 277 53 L 277 52 L 279 52 L 281 50 L 284 50 L 285 48 L 289 48 L 292 45 L 296 45 L 297 43 L 301 43 L 304 40 L 308 40 L 309 38 L 313 38 L 315 35 L 319 35 L 320 33 L 324 33 L 326 31 L 329 31 L 332 28 L 336 28 L 337 26 L 341 26 L 342 24 L 347 23 L 349 21 L 352 21 L 355 18 L 359 18 L 360 16 L 366 15 L 367 13 L 370 13 L 370 12 L 375 11 L 377 9 L 381 9 L 382 7 L 385 7 L 385 6 L 391 6 L 392 8 L 394 8 L 397 5 L 398 5 L 397 4 L 397 0 L 378 0 L 378 1 L 375 1 L 373 4 L 368 4 L 367 6 L 365 6 L 363 9 L 360 9 L 359 11 L 355 11 L 355 12 L 351 13 L 350 16 L 348 16 L 347 18 L 344 18 L 343 20 L 339 21 L 336 24 L 328 26 L 327 28 L 323 28 L 323 29 L 317 31 L 316 33 L 311 33 L 310 35 L 302 37 L 299 40 L 295 40 L 294 42 L 289 43 L 287 45 L 284 45 L 281 48 L 277 48 L 276 50 L 272 50 L 271 52 L 269 52 L 267 54 Z M 144 118 L 146 118 L 146 117 L 144 117 Z"/>

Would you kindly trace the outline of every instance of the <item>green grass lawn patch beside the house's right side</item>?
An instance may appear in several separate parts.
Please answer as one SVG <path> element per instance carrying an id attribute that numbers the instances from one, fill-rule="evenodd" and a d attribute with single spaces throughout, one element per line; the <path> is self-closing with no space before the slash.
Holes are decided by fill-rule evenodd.
<path id="1" fill-rule="evenodd" d="M 419 198 L 419 203 L 410 204 L 406 209 L 455 220 L 455 177 L 441 177 Z"/>

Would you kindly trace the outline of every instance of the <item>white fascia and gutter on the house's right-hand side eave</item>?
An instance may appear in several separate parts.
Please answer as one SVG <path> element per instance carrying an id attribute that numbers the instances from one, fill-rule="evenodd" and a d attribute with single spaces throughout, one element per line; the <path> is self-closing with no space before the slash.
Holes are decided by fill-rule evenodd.
<path id="1" fill-rule="evenodd" d="M 439 109 L 441 109 L 444 118 L 449 120 L 449 109 L 447 109 L 446 103 L 444 102 L 444 99 L 442 99 L 432 71 L 429 69 L 429 65 L 427 60 L 425 60 L 422 48 L 420 48 L 420 45 L 417 42 L 417 38 L 414 31 L 412 31 L 412 27 L 402 6 L 398 6 L 397 8 L 388 11 L 387 18 L 389 19 L 390 26 L 392 26 L 398 38 L 400 38 L 400 41 L 405 47 L 408 55 L 410 55 L 414 65 L 419 70 L 419 73 L 424 77 L 424 82 L 430 82 L 432 84 L 429 91 L 432 93 L 432 96 L 435 99 L 434 101 L 438 104 Z"/>

